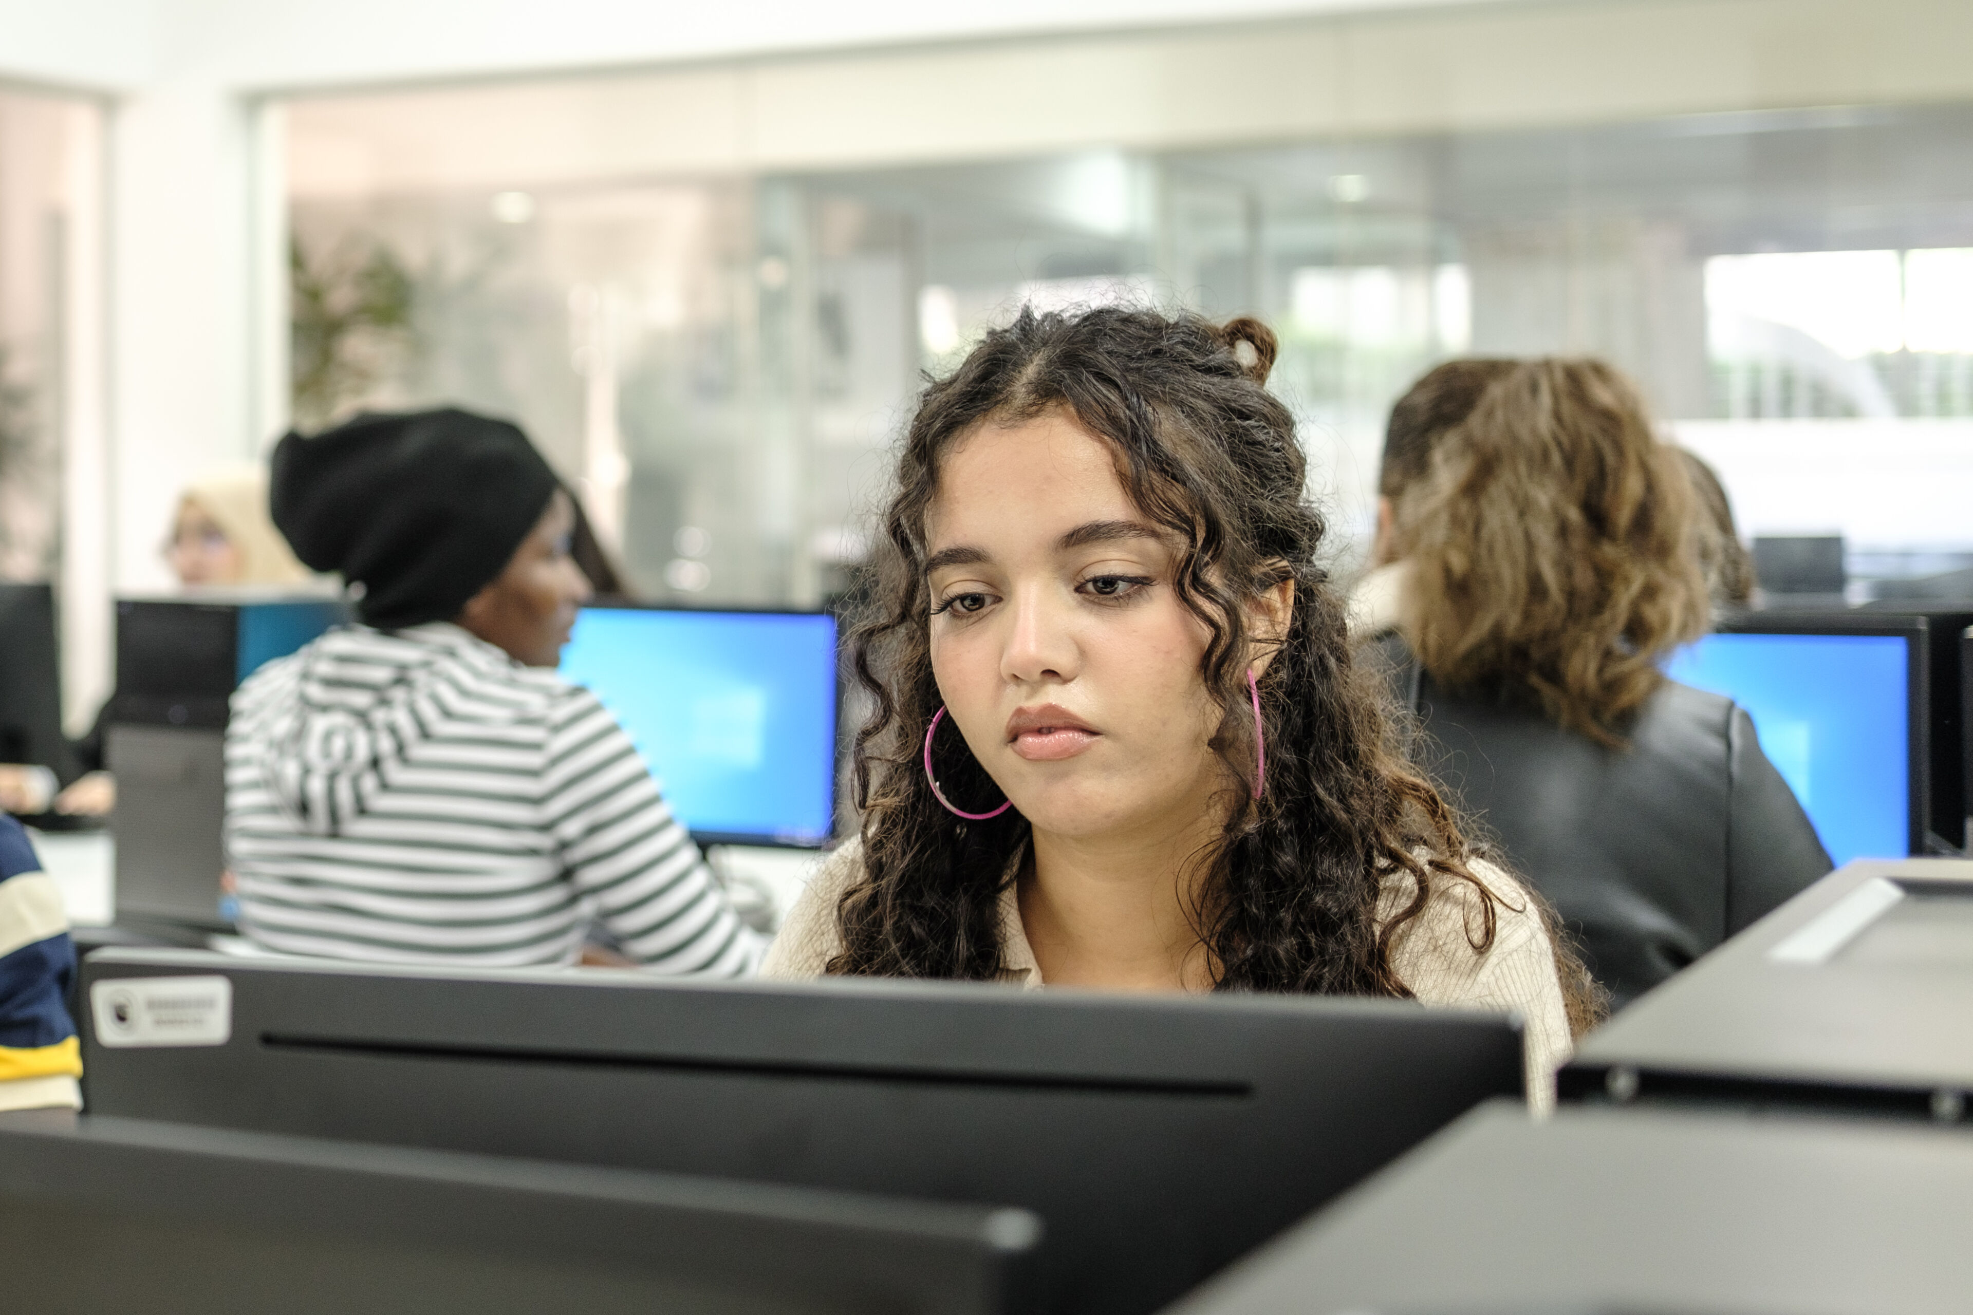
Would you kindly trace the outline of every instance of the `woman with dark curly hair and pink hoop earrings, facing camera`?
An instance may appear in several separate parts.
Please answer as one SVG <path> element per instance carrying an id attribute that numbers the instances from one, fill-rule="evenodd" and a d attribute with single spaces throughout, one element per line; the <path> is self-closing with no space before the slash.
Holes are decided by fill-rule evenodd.
<path id="1" fill-rule="evenodd" d="M 1541 1096 L 1580 972 L 1387 747 L 1273 359 L 1024 311 L 925 390 L 854 635 L 862 832 L 764 976 L 1519 1009 Z"/>

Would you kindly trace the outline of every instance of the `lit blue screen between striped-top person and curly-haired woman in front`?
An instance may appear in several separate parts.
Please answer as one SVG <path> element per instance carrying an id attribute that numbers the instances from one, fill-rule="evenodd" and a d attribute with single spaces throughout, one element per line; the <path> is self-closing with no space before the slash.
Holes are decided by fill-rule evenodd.
<path id="1" fill-rule="evenodd" d="M 835 617 L 584 607 L 562 676 L 616 714 L 691 830 L 829 838 Z"/>

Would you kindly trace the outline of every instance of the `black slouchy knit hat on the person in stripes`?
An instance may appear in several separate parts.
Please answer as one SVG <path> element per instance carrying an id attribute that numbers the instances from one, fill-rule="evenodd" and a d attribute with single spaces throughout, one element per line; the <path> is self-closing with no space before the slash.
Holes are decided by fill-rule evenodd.
<path id="1" fill-rule="evenodd" d="M 558 481 L 517 426 L 371 412 L 274 448 L 268 505 L 294 556 L 361 582 L 379 629 L 450 621 L 491 584 Z"/>

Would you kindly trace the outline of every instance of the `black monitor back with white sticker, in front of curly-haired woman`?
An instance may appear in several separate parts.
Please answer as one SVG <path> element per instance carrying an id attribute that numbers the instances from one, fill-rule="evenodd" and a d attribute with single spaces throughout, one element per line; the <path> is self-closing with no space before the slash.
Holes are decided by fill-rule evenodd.
<path id="1" fill-rule="evenodd" d="M 1523 1090 L 1517 1019 L 1395 1000 L 126 948 L 83 974 L 99 1114 L 1022 1207 L 1050 1315 L 1156 1311 Z"/>

